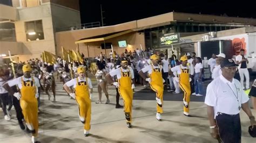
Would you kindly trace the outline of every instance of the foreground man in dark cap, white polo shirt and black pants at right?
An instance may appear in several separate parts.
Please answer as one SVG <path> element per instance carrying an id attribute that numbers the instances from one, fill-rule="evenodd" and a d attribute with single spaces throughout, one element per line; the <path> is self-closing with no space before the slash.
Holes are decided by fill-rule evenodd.
<path id="1" fill-rule="evenodd" d="M 256 125 L 248 106 L 249 98 L 239 81 L 233 78 L 237 66 L 232 59 L 225 59 L 220 65 L 222 74 L 206 90 L 205 104 L 211 135 L 221 142 L 241 142 L 240 109 L 245 111 L 251 125 Z"/>

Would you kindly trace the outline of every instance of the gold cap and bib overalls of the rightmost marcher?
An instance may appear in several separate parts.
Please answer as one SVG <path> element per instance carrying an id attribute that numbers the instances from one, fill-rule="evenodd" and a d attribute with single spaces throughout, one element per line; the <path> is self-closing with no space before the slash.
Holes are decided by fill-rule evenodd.
<path id="1" fill-rule="evenodd" d="M 182 60 L 183 57 L 181 57 Z M 186 60 L 186 59 L 183 59 Z M 178 75 L 179 78 L 179 87 L 181 90 L 184 92 L 184 97 L 183 97 L 183 110 L 186 113 L 189 113 L 190 108 L 189 108 L 189 103 L 190 103 L 190 95 L 191 95 L 191 88 L 190 88 L 190 69 L 187 66 L 187 69 L 182 69 L 181 66 L 180 71 L 181 73 Z"/>

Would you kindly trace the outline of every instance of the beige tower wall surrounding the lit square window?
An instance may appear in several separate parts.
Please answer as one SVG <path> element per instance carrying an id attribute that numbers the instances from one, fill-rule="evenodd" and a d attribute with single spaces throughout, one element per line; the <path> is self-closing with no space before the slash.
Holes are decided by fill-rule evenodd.
<path id="1" fill-rule="evenodd" d="M 43 51 L 49 51 L 55 54 L 55 42 L 53 35 L 53 26 L 51 18 L 50 4 L 43 4 L 37 7 L 19 9 L 20 19 L 15 22 L 16 39 L 23 42 L 22 61 L 26 61 L 29 57 L 39 58 Z M 42 20 L 44 40 L 27 41 L 25 33 L 25 22 L 34 20 Z"/>

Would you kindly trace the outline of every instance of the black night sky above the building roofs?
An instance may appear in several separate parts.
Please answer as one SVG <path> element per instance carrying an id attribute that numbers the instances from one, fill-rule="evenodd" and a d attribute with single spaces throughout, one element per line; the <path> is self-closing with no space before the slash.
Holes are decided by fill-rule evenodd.
<path id="1" fill-rule="evenodd" d="M 235 0 L 239 1 L 239 0 Z M 224 15 L 230 17 L 256 18 L 256 1 L 104 1 L 102 3 L 104 24 L 114 25 L 131 20 L 161 15 L 167 12 L 186 12 L 209 15 Z M 82 23 L 101 22 L 100 2 L 80 0 L 80 15 Z M 145 3 L 146 2 L 146 3 Z"/>

